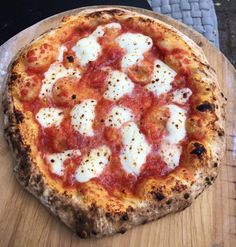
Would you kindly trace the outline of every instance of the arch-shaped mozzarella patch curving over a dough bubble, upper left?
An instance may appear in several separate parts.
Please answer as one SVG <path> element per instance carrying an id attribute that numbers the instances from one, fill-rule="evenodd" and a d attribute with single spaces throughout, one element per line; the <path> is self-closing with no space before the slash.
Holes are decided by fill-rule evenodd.
<path id="1" fill-rule="evenodd" d="M 53 63 L 47 72 L 44 73 L 44 79 L 42 81 L 42 87 L 39 93 L 39 97 L 51 97 L 52 88 L 56 81 L 63 77 L 73 76 L 78 79 L 81 78 L 81 73 L 78 68 L 65 68 L 61 63 Z"/>

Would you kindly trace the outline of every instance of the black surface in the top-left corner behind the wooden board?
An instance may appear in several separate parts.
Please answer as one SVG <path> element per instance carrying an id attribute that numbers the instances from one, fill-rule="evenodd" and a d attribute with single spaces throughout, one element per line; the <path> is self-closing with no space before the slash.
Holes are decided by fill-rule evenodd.
<path id="1" fill-rule="evenodd" d="M 0 5 L 0 45 L 38 21 L 88 5 L 130 5 L 151 10 L 146 0 L 5 0 Z"/>

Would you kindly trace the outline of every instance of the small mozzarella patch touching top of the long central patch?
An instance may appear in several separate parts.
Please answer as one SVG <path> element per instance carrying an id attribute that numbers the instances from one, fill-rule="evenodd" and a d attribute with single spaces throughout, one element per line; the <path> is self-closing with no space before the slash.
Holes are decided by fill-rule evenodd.
<path id="1" fill-rule="evenodd" d="M 105 125 L 113 128 L 120 128 L 124 123 L 133 120 L 134 116 L 130 109 L 122 106 L 114 106 L 105 120 Z"/>

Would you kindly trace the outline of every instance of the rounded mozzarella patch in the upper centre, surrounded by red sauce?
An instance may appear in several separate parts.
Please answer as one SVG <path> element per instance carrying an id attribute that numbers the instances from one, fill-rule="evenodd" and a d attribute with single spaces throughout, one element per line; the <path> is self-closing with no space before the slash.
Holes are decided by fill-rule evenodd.
<path id="1" fill-rule="evenodd" d="M 107 78 L 107 90 L 103 97 L 108 100 L 116 101 L 124 95 L 132 92 L 134 83 L 125 73 L 118 70 L 111 71 Z"/>

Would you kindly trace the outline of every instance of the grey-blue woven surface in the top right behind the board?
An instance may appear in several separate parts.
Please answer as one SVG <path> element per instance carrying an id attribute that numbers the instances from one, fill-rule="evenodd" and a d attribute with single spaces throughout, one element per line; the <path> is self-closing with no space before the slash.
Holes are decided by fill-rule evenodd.
<path id="1" fill-rule="evenodd" d="M 148 0 L 156 12 L 193 27 L 219 47 L 217 18 L 212 0 Z"/>

